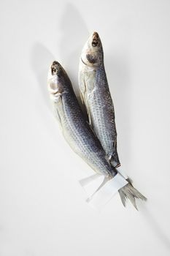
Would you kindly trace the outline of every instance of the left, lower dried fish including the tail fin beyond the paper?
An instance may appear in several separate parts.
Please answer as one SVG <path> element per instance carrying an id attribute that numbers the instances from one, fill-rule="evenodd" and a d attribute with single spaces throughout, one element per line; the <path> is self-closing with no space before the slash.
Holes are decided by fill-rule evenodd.
<path id="1" fill-rule="evenodd" d="M 55 117 L 61 127 L 63 137 L 72 148 L 96 173 L 104 176 L 104 181 L 96 192 L 112 178 L 118 175 L 110 165 L 100 141 L 86 120 L 74 94 L 71 80 L 58 61 L 53 61 L 48 74 L 47 88 L 53 104 Z M 143 195 L 130 183 L 119 189 L 125 206 L 128 198 L 136 208 L 136 198 L 144 200 Z"/>

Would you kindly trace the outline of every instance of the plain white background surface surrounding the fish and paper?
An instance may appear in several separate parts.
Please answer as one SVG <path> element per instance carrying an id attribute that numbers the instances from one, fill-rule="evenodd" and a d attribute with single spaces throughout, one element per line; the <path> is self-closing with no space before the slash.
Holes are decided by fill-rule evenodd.
<path id="1" fill-rule="evenodd" d="M 170 1 L 1 1 L 1 256 L 170 253 Z M 63 140 L 47 93 L 60 61 L 77 89 L 79 57 L 98 31 L 123 170 L 147 196 L 85 203 L 89 170 Z"/>

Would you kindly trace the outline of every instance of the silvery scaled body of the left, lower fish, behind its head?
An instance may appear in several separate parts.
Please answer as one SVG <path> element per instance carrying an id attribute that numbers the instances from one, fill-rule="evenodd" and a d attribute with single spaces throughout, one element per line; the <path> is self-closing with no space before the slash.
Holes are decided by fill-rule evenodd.
<path id="1" fill-rule="evenodd" d="M 112 173 L 112 176 L 115 176 L 117 172 L 107 162 L 101 143 L 85 120 L 70 82 L 67 84 L 67 91 L 59 97 L 62 108 L 58 99 L 55 100 L 54 108 L 58 110 L 66 141 L 97 173 Z"/>

